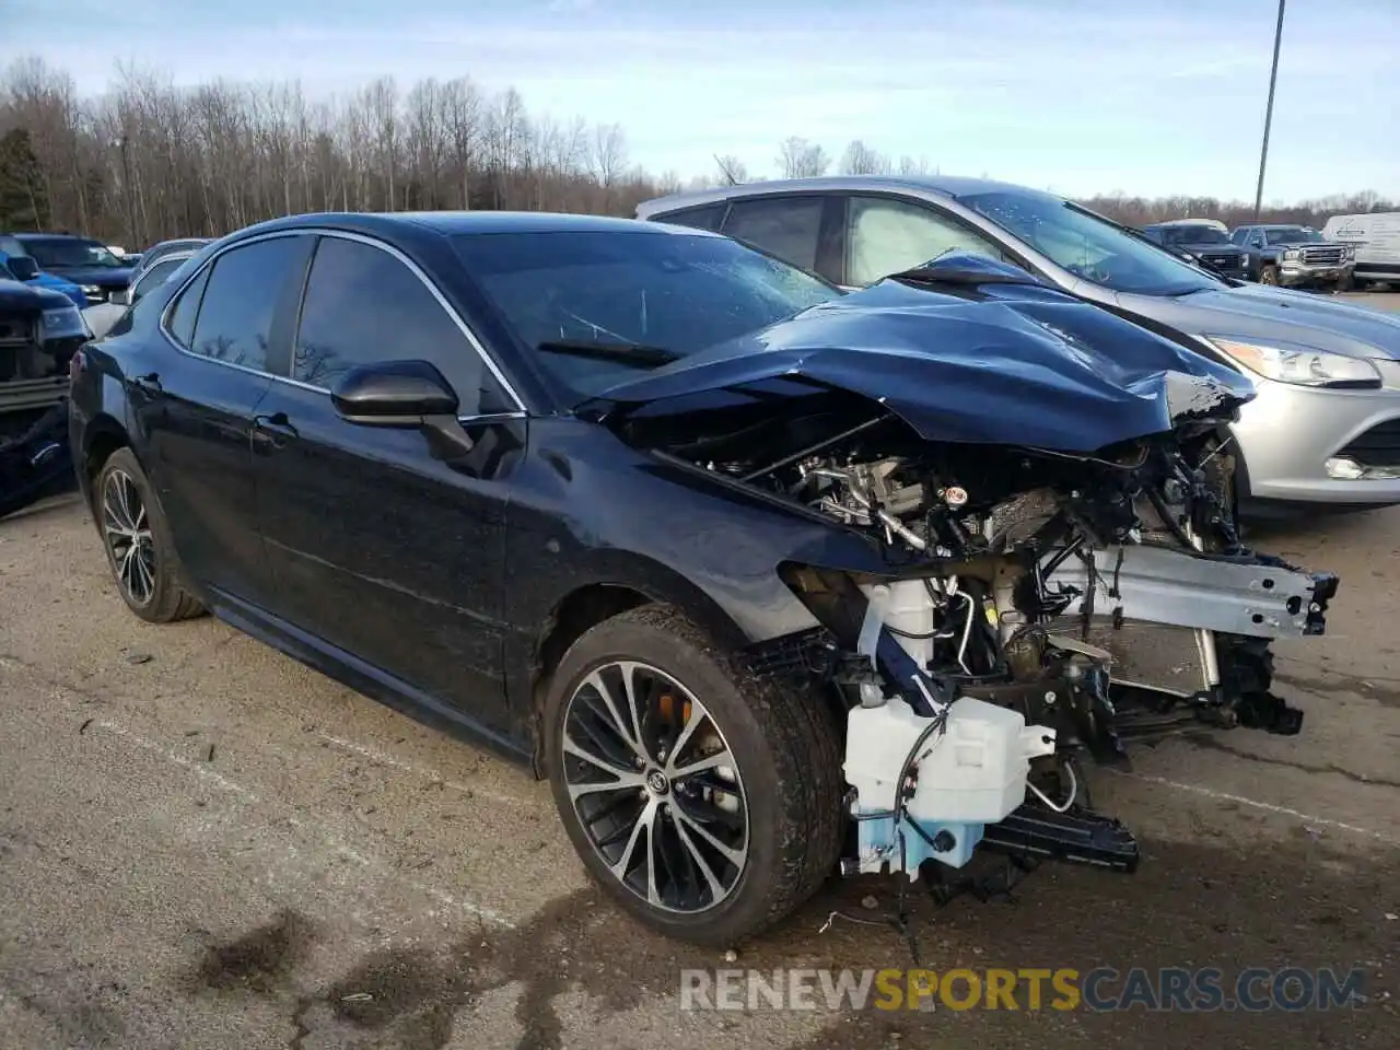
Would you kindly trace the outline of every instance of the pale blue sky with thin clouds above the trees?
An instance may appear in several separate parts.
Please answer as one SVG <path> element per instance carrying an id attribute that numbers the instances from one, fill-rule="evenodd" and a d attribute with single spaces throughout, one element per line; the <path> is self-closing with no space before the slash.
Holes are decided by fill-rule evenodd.
<path id="1" fill-rule="evenodd" d="M 175 83 L 381 74 L 515 85 L 619 122 L 682 176 L 788 134 L 1068 195 L 1252 199 L 1275 0 L 0 0 L 0 60 L 87 94 L 120 62 Z M 1400 197 L 1400 0 L 1291 0 L 1267 200 Z"/>

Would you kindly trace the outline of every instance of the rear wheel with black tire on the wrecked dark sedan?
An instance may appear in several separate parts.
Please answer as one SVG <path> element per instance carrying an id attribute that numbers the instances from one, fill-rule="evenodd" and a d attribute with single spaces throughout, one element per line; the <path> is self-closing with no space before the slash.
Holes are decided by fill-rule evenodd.
<path id="1" fill-rule="evenodd" d="M 134 490 L 140 507 L 144 510 L 144 518 L 136 510 L 132 511 L 130 517 L 137 525 L 144 522 L 147 526 L 144 532 L 148 533 L 148 536 L 136 540 L 140 550 L 136 552 L 134 557 L 141 564 L 134 566 L 130 573 L 122 570 L 126 547 L 119 538 L 120 533 L 112 528 L 120 524 L 118 521 L 122 517 L 120 511 L 108 507 L 108 497 L 116 500 L 118 491 L 126 484 Z M 174 623 L 204 612 L 204 606 L 185 582 L 185 570 L 175 553 L 169 522 L 165 521 L 165 512 L 155 498 L 155 490 L 132 449 L 116 449 L 98 470 L 92 483 L 92 519 L 102 538 L 102 549 L 106 552 L 106 563 L 112 570 L 116 592 L 122 595 L 126 608 L 148 623 Z M 137 573 L 137 575 L 132 575 L 132 573 Z M 147 580 L 148 594 L 141 594 Z"/>

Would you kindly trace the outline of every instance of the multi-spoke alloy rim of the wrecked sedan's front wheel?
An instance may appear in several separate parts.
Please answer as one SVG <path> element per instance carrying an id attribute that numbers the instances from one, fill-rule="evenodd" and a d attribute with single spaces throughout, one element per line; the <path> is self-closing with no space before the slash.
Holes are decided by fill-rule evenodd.
<path id="1" fill-rule="evenodd" d="M 655 909 L 724 902 L 749 858 L 749 805 L 718 722 L 666 672 L 595 668 L 564 711 L 563 778 L 574 816 L 623 886 Z"/>

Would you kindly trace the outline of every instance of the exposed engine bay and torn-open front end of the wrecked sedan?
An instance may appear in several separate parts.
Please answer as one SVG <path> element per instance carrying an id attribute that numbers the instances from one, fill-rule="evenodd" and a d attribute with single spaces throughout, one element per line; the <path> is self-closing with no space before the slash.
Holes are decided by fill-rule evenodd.
<path id="1" fill-rule="evenodd" d="M 822 626 L 752 654 L 840 697 L 848 872 L 917 878 L 979 846 L 1131 871 L 1131 834 L 1086 804 L 1085 759 L 1189 727 L 1299 731 L 1268 647 L 1320 634 L 1337 580 L 1243 546 L 1210 406 L 1089 455 L 928 441 L 841 392 L 812 403 L 703 413 L 693 434 L 671 419 L 664 441 L 626 427 L 879 547 L 881 574 L 785 566 Z"/>

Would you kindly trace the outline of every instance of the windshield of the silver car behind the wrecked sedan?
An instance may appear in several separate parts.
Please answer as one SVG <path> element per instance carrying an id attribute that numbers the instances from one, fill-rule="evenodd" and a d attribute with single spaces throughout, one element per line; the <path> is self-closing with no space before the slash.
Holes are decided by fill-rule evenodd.
<path id="1" fill-rule="evenodd" d="M 1184 295 L 1224 284 L 1068 200 L 1015 190 L 970 193 L 959 200 L 1057 266 L 1113 291 Z"/>

